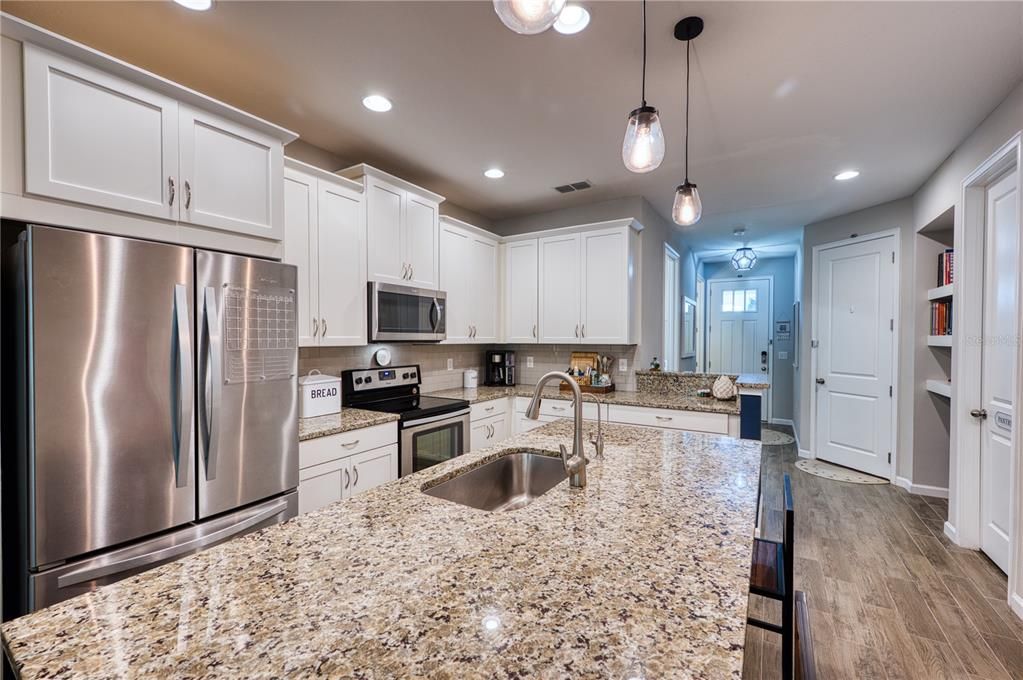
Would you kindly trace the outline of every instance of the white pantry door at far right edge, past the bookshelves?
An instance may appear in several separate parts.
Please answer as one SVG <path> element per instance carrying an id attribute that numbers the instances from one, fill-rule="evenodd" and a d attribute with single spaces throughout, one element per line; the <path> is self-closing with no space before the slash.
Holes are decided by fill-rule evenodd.
<path id="1" fill-rule="evenodd" d="M 981 400 L 987 417 L 980 444 L 980 547 L 1009 571 L 1011 529 L 1013 375 L 1017 345 L 1016 283 L 1019 272 L 1019 196 L 1016 172 L 987 189 L 984 234 L 984 337 Z M 1004 341 L 1004 342 L 998 342 Z"/>

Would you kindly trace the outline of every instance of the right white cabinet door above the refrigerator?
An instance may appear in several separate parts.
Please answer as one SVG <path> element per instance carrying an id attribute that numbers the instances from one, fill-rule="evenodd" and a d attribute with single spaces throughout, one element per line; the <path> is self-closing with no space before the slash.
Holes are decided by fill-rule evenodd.
<path id="1" fill-rule="evenodd" d="M 183 104 L 178 121 L 181 221 L 280 240 L 280 140 Z"/>

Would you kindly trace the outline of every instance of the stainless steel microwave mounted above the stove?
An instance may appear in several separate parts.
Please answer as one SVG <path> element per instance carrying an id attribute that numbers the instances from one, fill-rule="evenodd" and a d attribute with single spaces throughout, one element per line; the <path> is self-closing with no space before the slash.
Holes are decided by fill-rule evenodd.
<path id="1" fill-rule="evenodd" d="M 447 337 L 447 293 L 369 282 L 370 343 L 439 343 Z"/>

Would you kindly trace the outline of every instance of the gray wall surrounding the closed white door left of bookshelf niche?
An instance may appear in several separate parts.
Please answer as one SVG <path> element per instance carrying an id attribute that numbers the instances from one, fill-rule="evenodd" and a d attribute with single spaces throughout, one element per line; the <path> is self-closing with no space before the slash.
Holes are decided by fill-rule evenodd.
<path id="1" fill-rule="evenodd" d="M 899 285 L 901 291 L 913 290 L 914 281 L 914 233 L 913 201 L 908 198 L 893 200 L 865 210 L 843 215 L 831 220 L 807 225 L 803 231 L 802 248 L 802 293 L 800 319 L 800 367 L 797 374 L 799 390 L 795 393 L 796 428 L 799 445 L 802 449 L 812 451 L 815 446 L 810 440 L 810 412 L 813 397 L 816 393 L 812 372 L 812 355 L 810 339 L 812 338 L 813 319 L 813 246 L 849 238 L 853 234 L 865 236 L 895 229 L 899 233 L 900 261 Z M 898 395 L 897 423 L 898 440 L 896 444 L 896 473 L 899 477 L 911 479 L 913 474 L 913 352 L 914 352 L 914 296 L 899 296 L 900 325 L 898 332 Z"/>

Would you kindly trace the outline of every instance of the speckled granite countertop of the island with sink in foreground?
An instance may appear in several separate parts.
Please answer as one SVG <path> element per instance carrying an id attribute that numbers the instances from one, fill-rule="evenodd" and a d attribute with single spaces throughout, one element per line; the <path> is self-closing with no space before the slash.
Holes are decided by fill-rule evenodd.
<path id="1" fill-rule="evenodd" d="M 420 493 L 555 421 L 4 623 L 24 678 L 740 678 L 759 442 L 611 425 L 586 489 Z"/>

